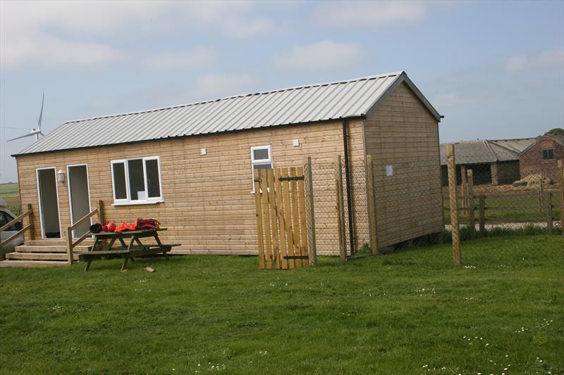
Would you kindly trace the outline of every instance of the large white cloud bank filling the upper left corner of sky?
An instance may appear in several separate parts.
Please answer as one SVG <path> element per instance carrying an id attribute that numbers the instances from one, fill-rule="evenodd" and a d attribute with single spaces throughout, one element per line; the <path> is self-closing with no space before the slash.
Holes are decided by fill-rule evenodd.
<path id="1" fill-rule="evenodd" d="M 109 63 L 130 54 L 116 48 L 116 37 L 269 32 L 271 20 L 255 15 L 256 7 L 250 1 L 0 1 L 0 64 Z M 157 65 L 190 65 L 190 58 L 164 55 Z"/>

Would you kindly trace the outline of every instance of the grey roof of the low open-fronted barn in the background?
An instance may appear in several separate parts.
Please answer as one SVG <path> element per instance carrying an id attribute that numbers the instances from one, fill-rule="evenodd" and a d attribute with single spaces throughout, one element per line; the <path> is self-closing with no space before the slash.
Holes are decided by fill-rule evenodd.
<path id="1" fill-rule="evenodd" d="M 533 144 L 535 140 L 535 138 L 492 141 L 479 139 L 455 142 L 455 161 L 456 164 L 482 164 L 519 160 L 519 153 Z M 446 144 L 441 144 L 441 165 L 446 165 Z"/>

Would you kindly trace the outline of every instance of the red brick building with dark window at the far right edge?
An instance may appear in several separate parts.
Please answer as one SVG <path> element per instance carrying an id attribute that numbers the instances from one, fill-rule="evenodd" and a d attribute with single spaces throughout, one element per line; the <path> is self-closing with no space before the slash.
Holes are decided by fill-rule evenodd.
<path id="1" fill-rule="evenodd" d="M 564 134 L 545 134 L 535 139 L 519 155 L 522 178 L 541 172 L 558 181 L 558 160 L 564 158 Z"/>

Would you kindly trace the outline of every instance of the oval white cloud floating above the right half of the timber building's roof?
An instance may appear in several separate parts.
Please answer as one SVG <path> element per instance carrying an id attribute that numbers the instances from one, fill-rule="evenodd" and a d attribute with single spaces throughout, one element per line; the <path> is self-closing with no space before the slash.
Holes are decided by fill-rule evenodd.
<path id="1" fill-rule="evenodd" d="M 293 46 L 274 58 L 279 68 L 329 70 L 358 63 L 364 58 L 360 44 L 322 40 L 313 44 Z"/>

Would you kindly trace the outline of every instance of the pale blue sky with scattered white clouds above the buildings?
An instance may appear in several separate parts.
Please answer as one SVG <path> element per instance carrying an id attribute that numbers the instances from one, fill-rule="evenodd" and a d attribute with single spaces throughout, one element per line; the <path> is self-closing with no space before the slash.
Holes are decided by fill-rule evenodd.
<path id="1" fill-rule="evenodd" d="M 0 183 L 37 126 L 405 70 L 441 142 L 564 125 L 564 1 L 0 0 Z"/>

